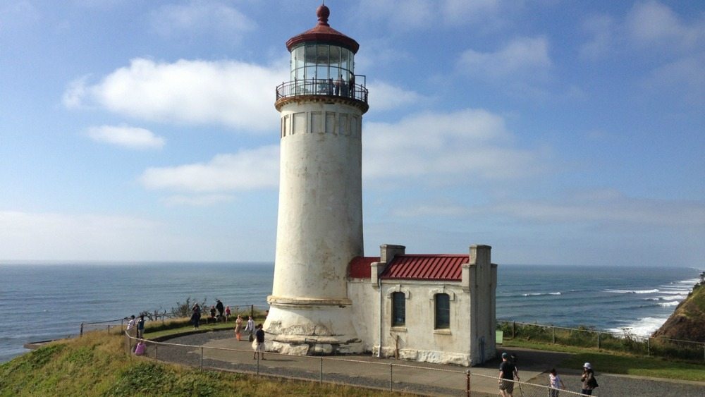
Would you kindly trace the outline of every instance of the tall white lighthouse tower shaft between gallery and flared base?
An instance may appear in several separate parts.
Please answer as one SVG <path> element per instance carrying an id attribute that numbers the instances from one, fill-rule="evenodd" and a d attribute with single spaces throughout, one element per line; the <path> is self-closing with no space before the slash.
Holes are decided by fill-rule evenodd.
<path id="1" fill-rule="evenodd" d="M 361 119 L 345 104 L 281 109 L 275 297 L 348 298 L 348 263 L 363 247 Z"/>

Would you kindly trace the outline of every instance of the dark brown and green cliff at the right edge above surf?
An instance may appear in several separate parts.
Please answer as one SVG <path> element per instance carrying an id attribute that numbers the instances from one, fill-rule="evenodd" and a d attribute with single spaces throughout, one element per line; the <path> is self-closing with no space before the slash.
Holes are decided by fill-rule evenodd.
<path id="1" fill-rule="evenodd" d="M 705 272 L 693 291 L 675 307 L 673 314 L 652 336 L 680 339 L 682 341 L 705 341 Z"/>

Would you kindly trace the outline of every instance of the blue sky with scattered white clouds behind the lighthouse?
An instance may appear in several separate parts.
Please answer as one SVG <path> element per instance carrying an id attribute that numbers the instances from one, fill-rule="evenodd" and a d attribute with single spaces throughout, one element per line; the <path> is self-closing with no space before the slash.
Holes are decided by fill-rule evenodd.
<path id="1" fill-rule="evenodd" d="M 272 262 L 319 4 L 0 0 L 0 261 Z M 365 255 L 705 268 L 705 3 L 326 5 L 369 90 Z"/>

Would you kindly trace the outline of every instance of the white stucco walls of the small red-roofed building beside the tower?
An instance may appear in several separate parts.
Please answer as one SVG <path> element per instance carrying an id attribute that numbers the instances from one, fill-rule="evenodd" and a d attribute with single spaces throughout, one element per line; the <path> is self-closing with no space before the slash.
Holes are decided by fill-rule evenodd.
<path id="1" fill-rule="evenodd" d="M 476 257 L 473 253 L 477 248 L 471 247 L 470 263 L 463 265 L 462 281 L 382 281 L 382 356 L 464 366 L 494 358 L 497 268 L 489 262 L 489 247 L 480 247 L 480 255 Z M 348 282 L 355 329 L 364 350 L 376 355 L 380 341 L 380 303 L 375 287 L 372 279 Z M 391 326 L 394 292 L 402 292 L 406 297 L 405 326 Z M 434 329 L 437 293 L 447 293 L 450 298 L 448 329 Z"/>

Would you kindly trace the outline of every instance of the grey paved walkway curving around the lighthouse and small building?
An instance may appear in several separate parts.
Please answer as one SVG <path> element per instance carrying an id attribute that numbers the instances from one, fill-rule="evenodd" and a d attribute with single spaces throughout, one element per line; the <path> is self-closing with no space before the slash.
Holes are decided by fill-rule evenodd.
<path id="1" fill-rule="evenodd" d="M 159 346 L 159 360 L 178 362 L 187 365 L 212 367 L 270 374 L 318 381 L 333 381 L 379 389 L 388 389 L 390 376 L 395 391 L 408 391 L 434 396 L 465 395 L 466 371 L 470 369 L 472 396 L 497 396 L 498 367 L 501 360 L 491 360 L 484 365 L 472 368 L 453 365 L 437 365 L 427 362 L 412 362 L 394 359 L 380 359 L 372 355 L 345 355 L 338 357 L 292 356 L 266 353 L 266 360 L 252 359 L 252 348 L 247 341 L 236 341 L 232 331 L 215 331 L 203 334 L 179 336 L 166 342 L 201 346 L 199 348 L 180 346 Z M 154 349 L 149 348 L 149 355 Z M 203 358 L 201 359 L 201 351 Z M 503 351 L 503 349 L 499 349 Z M 553 353 L 543 350 L 512 348 L 511 353 L 519 357 L 517 367 L 522 381 L 545 385 L 546 371 L 556 367 L 563 377 L 568 390 L 580 391 L 580 373 L 576 370 L 563 370 L 560 362 L 568 358 L 568 353 Z M 705 396 L 705 383 L 668 381 L 627 377 L 597 372 L 600 381 L 595 396 Z M 524 385 L 515 396 L 546 396 L 546 389 Z M 562 396 L 570 396 L 562 393 Z"/>

